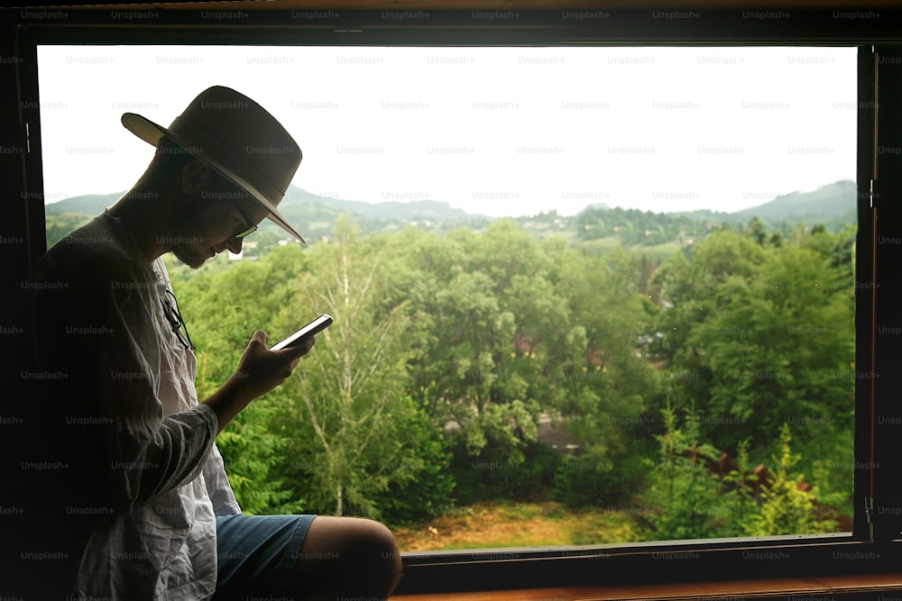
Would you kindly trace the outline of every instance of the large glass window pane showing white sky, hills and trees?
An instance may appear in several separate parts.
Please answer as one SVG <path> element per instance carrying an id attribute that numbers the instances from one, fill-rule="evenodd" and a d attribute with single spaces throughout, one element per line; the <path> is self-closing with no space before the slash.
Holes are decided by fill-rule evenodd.
<path id="1" fill-rule="evenodd" d="M 121 114 L 235 87 L 304 151 L 308 244 L 171 265 L 198 396 L 336 317 L 219 441 L 246 512 L 404 551 L 849 531 L 856 52 L 41 47 L 49 242 L 151 159 Z"/>

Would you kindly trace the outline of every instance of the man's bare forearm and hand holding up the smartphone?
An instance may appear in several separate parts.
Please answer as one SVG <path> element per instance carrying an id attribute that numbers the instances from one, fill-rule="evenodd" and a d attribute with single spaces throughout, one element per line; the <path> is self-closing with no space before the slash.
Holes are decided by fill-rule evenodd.
<path id="1" fill-rule="evenodd" d="M 251 341 L 238 360 L 235 373 L 204 400 L 205 405 L 216 411 L 219 432 L 254 398 L 265 395 L 284 382 L 298 367 L 300 358 L 313 348 L 314 338 L 310 336 L 308 340 L 281 351 L 270 351 L 266 346 L 266 332 L 253 332 Z"/>

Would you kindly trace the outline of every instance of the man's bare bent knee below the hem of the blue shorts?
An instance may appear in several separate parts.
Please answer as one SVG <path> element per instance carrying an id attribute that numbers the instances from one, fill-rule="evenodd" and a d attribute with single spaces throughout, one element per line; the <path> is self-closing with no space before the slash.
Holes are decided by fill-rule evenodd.
<path id="1" fill-rule="evenodd" d="M 400 578 L 400 552 L 391 531 L 378 522 L 318 515 L 295 573 L 312 599 L 384 599 Z"/>

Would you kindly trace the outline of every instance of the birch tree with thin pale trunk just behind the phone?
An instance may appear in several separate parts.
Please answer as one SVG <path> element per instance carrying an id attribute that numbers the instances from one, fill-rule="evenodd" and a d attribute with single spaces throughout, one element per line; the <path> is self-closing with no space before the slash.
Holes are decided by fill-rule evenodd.
<path id="1" fill-rule="evenodd" d="M 450 491 L 438 433 L 406 393 L 407 303 L 387 285 L 391 267 L 375 248 L 341 219 L 334 241 L 311 251 L 297 302 L 277 319 L 292 323 L 310 307 L 335 318 L 279 393 L 289 411 L 278 432 L 296 458 L 281 473 L 305 491 L 308 511 L 375 517 L 390 489 L 427 487 L 439 503 Z"/>

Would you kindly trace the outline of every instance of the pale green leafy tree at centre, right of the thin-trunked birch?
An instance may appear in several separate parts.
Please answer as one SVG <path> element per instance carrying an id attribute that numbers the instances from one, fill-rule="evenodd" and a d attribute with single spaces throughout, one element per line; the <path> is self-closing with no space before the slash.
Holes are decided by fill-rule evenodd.
<path id="1" fill-rule="evenodd" d="M 456 432 L 452 446 L 478 457 L 493 442 L 503 460 L 520 463 L 537 433 L 537 355 L 559 327 L 559 299 L 542 276 L 548 261 L 531 235 L 503 221 L 480 236 L 455 232 L 419 245 L 416 268 L 434 287 L 415 300 L 423 352 L 411 363 L 421 377 L 414 394 Z"/>

